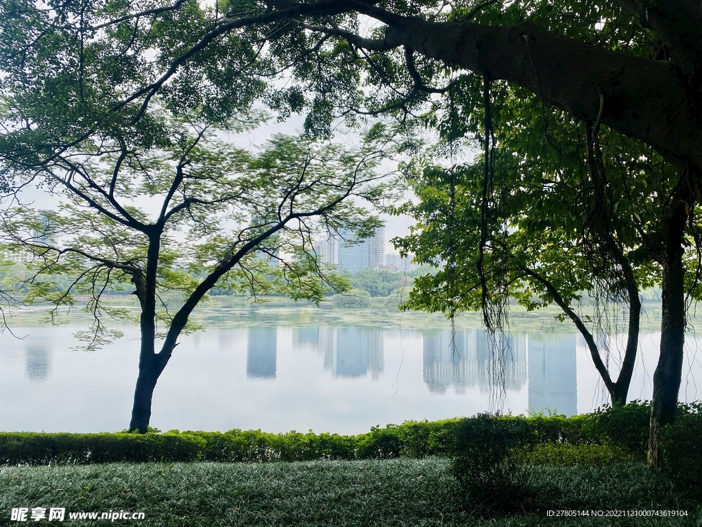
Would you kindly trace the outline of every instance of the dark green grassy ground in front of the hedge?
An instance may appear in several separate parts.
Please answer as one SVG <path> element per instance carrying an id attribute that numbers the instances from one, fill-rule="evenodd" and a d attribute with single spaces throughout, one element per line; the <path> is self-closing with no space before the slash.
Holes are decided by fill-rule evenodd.
<path id="1" fill-rule="evenodd" d="M 529 512 L 479 519 L 460 506 L 442 459 L 292 464 L 110 464 L 0 469 L 0 525 L 13 507 L 68 512 L 144 512 L 112 525 L 147 526 L 699 526 L 701 510 L 681 500 L 643 464 L 538 467 Z M 687 509 L 682 518 L 555 518 L 549 509 Z M 604 514 L 607 514 L 606 512 Z M 625 513 L 626 514 L 626 513 Z M 69 520 L 72 526 L 108 520 Z M 48 523 L 44 520 L 41 523 Z M 54 524 L 60 524 L 55 522 Z"/>

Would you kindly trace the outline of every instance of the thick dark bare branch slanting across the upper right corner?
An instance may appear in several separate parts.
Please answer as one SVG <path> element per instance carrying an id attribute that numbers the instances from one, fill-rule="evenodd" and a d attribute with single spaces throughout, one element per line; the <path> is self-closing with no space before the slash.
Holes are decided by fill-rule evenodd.
<path id="1" fill-rule="evenodd" d="M 689 2 L 691 5 L 692 0 Z M 608 105 L 602 124 L 702 168 L 702 100 L 698 89 L 691 91 L 680 75 L 682 64 L 609 51 L 530 24 L 493 27 L 465 21 L 428 22 L 361 1 L 334 4 L 334 8 L 329 2 L 297 4 L 265 16 L 357 11 L 388 25 L 383 46 L 408 46 L 449 65 L 517 84 L 547 103 L 591 121 L 597 118 L 603 93 Z M 232 24 L 258 23 L 250 20 Z M 691 22 L 691 27 L 698 29 L 699 25 Z M 336 32 L 331 27 L 324 31 Z M 689 38 L 702 39 L 699 33 L 692 32 Z"/>

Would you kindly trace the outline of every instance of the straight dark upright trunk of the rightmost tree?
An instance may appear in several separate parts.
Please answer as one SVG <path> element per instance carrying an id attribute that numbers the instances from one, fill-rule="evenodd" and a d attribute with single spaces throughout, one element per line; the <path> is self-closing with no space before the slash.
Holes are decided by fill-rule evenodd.
<path id="1" fill-rule="evenodd" d="M 668 223 L 663 258 L 663 315 L 661 318 L 661 355 L 654 372 L 649 431 L 649 467 L 661 467 L 659 433 L 663 425 L 673 422 L 677 394 L 682 379 L 682 354 L 685 332 L 685 269 L 682 263 L 682 239 L 687 214 L 683 202 L 676 207 Z M 689 205 L 688 205 L 689 206 Z"/>

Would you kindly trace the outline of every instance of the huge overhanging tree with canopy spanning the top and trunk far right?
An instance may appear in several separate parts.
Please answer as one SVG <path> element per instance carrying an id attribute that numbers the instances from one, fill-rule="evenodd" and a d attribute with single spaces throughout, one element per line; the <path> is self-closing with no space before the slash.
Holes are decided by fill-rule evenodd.
<path id="1" fill-rule="evenodd" d="M 309 110 L 307 130 L 324 135 L 335 116 L 408 122 L 458 96 L 479 108 L 474 75 L 538 100 L 536 115 L 555 108 L 654 148 L 677 176 L 650 247 L 663 277 L 651 429 L 674 418 L 683 244 L 702 181 L 698 2 L 230 0 L 206 10 L 187 0 L 8 0 L 0 9 L 12 116 L 2 141 L 25 164 L 105 126 L 135 126 L 157 93 L 171 110 L 200 105 L 213 118 L 262 97 L 281 117 Z M 359 20 L 376 26 L 362 31 Z M 275 74 L 289 82 L 266 89 Z M 44 104 L 25 111 L 37 98 Z"/>

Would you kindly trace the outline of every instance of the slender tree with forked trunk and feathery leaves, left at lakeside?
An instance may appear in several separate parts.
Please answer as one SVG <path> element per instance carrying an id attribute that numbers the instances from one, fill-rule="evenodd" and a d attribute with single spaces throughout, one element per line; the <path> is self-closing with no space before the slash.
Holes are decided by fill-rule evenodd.
<path id="1" fill-rule="evenodd" d="M 208 291 L 319 302 L 325 287 L 345 284 L 317 260 L 315 235 L 369 235 L 378 221 L 352 198 L 382 195 L 373 183 L 382 134 L 356 151 L 275 136 L 251 153 L 197 120 L 150 117 L 159 128 L 151 148 L 117 134 L 83 141 L 41 169 L 6 164 L 25 183 L 51 188 L 61 204 L 37 211 L 13 193 L 0 228 L 8 250 L 32 259 L 28 300 L 59 308 L 89 295 L 88 346 L 114 337 L 107 314 L 129 316 L 105 304 L 105 290 L 133 287 L 141 338 L 129 429 L 141 433 L 157 380 Z"/>

